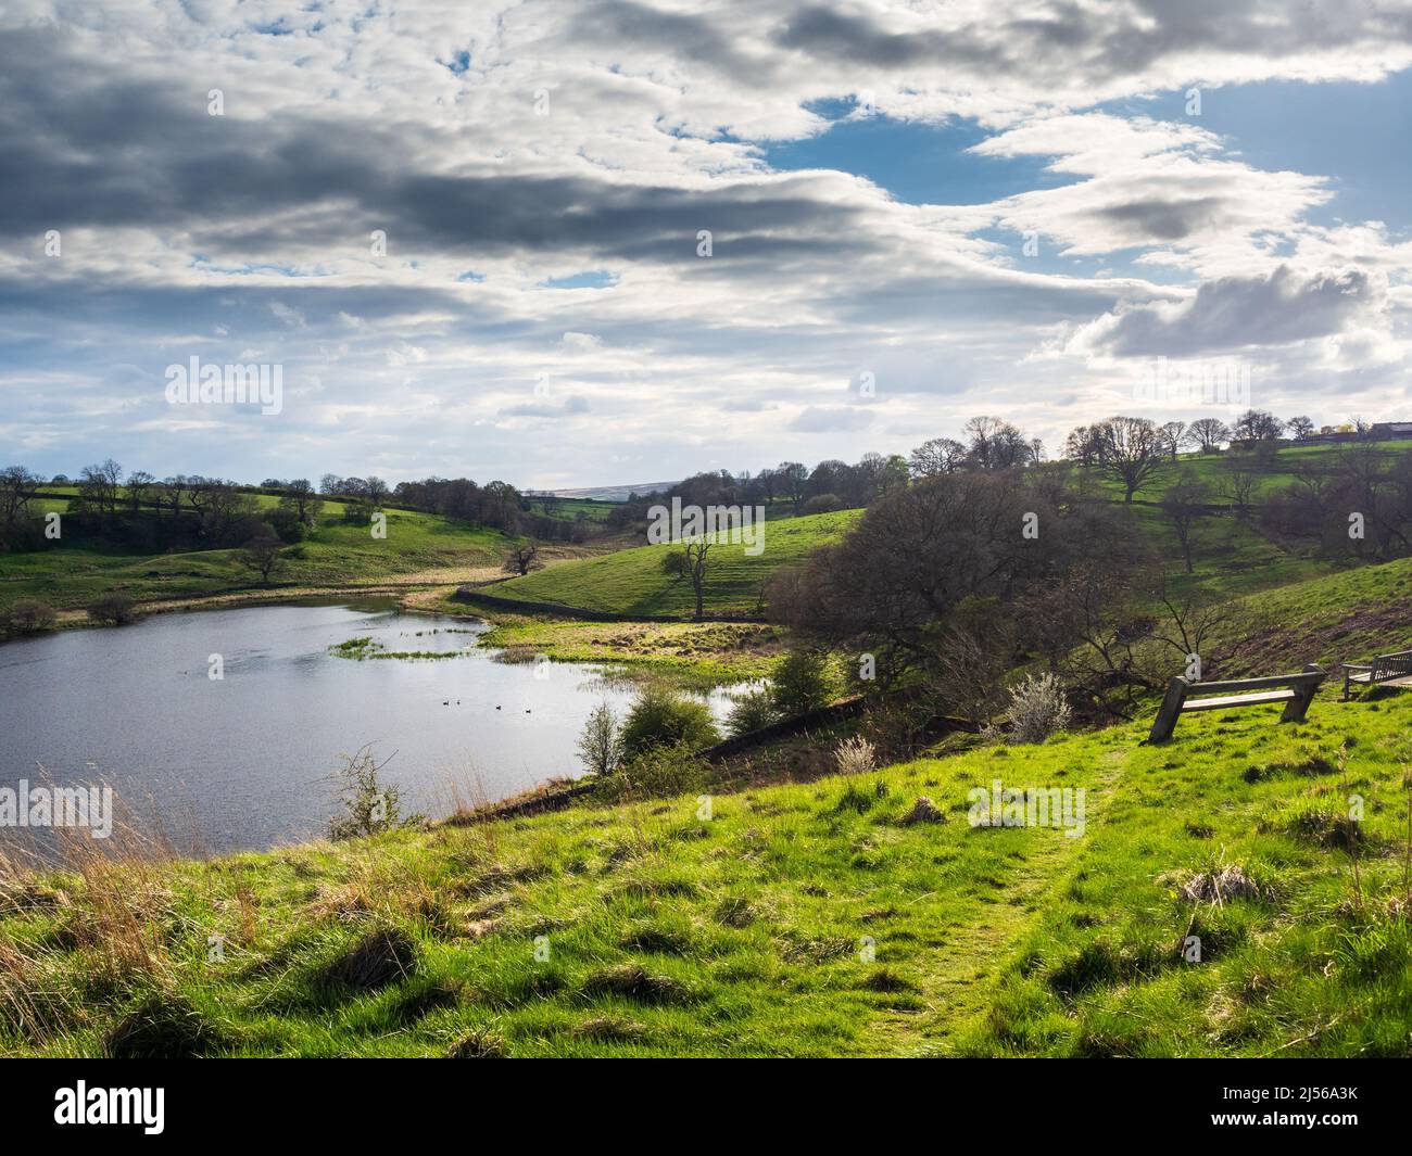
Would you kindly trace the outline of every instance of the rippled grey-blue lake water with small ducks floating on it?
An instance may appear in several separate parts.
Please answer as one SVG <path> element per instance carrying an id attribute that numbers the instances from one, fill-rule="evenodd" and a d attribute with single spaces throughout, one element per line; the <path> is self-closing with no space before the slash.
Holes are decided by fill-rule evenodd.
<path id="1" fill-rule="evenodd" d="M 497 662 L 474 648 L 484 630 L 377 603 L 281 604 L 7 642 L 0 786 L 34 785 L 41 765 L 56 785 L 104 782 L 140 813 L 155 803 L 182 850 L 227 851 L 322 834 L 336 809 L 328 776 L 364 744 L 393 757 L 383 776 L 404 812 L 448 813 L 453 783 L 493 800 L 578 775 L 589 713 L 606 700 L 621 716 L 631 690 L 593 666 Z M 354 637 L 463 654 L 329 654 Z M 709 700 L 723 717 L 726 693 Z"/>

